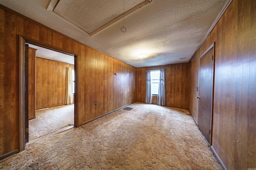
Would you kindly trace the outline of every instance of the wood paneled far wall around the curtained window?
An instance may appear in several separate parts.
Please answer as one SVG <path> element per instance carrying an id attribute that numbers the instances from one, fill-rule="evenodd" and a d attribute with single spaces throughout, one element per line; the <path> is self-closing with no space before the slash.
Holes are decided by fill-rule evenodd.
<path id="1" fill-rule="evenodd" d="M 146 70 L 166 68 L 166 106 L 188 108 L 189 63 L 137 68 L 136 94 L 138 102 L 145 102 Z"/>

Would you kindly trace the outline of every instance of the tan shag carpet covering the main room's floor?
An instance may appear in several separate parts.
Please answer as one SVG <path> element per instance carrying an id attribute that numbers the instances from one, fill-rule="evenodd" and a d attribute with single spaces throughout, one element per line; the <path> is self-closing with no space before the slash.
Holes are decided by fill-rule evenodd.
<path id="1" fill-rule="evenodd" d="M 0 160 L 3 169 L 215 170 L 214 154 L 186 109 L 136 102 Z"/>

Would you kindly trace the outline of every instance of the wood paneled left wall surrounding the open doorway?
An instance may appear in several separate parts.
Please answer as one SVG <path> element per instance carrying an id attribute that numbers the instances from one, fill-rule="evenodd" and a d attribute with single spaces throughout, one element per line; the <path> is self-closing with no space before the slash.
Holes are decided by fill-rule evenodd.
<path id="1" fill-rule="evenodd" d="M 19 149 L 18 35 L 77 55 L 78 125 L 136 102 L 136 68 L 10 11 L 0 5 L 0 155 Z"/>

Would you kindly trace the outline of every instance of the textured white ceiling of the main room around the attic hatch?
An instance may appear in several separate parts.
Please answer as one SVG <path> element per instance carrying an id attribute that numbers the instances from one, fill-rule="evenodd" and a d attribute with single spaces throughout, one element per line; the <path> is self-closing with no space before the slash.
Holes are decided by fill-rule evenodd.
<path id="1" fill-rule="evenodd" d="M 60 0 L 55 12 L 46 10 L 50 0 L 0 0 L 0 4 L 124 63 L 144 67 L 188 62 L 227 1 L 152 0 L 124 18 L 125 33 L 120 20 L 92 37 L 80 27 L 91 31 L 106 18 L 116 17 L 122 12 L 122 0 Z M 129 8 L 140 2 L 132 0 Z M 102 14 L 107 15 L 104 20 Z"/>

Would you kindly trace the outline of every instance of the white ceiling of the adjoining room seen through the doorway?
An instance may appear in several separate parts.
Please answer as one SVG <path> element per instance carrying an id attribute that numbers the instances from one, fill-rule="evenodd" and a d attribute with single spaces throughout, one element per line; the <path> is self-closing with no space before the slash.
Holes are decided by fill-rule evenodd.
<path id="1" fill-rule="evenodd" d="M 39 47 L 33 44 L 28 43 L 28 47 L 37 49 L 36 50 L 36 57 L 40 57 L 43 59 L 49 59 L 49 60 L 54 60 L 54 61 L 60 61 L 63 63 L 69 63 L 69 64 L 74 64 L 74 56 L 72 55 L 67 55 L 64 53 L 60 53 L 57 51 L 53 51 L 50 49 L 46 49 L 43 47 Z"/>

